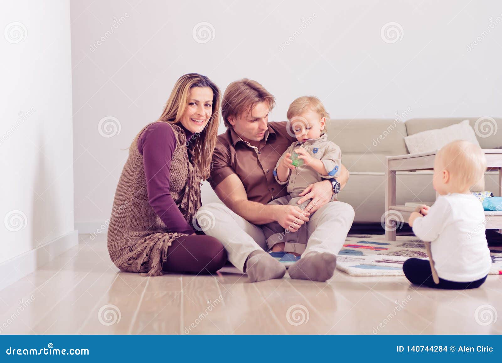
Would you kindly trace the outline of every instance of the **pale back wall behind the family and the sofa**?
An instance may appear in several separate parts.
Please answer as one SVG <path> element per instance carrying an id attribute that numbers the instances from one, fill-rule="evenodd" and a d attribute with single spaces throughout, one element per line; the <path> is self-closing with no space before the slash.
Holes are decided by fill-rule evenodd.
<path id="1" fill-rule="evenodd" d="M 496 0 L 72 1 L 77 226 L 91 232 L 109 218 L 120 149 L 188 72 L 222 91 L 242 77 L 260 81 L 277 97 L 271 120 L 304 94 L 333 118 L 394 118 L 408 107 L 410 117 L 500 116 L 501 14 Z M 205 43 L 193 36 L 202 22 Z M 390 22 L 402 28 L 394 43 L 381 34 Z M 106 117 L 112 137 L 98 130 Z"/>

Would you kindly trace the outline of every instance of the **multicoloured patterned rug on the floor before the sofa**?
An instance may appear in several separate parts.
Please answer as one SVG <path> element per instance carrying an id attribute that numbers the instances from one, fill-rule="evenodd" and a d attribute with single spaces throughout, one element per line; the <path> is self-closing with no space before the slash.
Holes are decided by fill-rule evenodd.
<path id="1" fill-rule="evenodd" d="M 502 274 L 502 247 L 490 247 L 490 275 Z M 336 267 L 350 276 L 402 276 L 410 257 L 427 258 L 424 244 L 415 236 L 351 235 L 336 257 Z"/>

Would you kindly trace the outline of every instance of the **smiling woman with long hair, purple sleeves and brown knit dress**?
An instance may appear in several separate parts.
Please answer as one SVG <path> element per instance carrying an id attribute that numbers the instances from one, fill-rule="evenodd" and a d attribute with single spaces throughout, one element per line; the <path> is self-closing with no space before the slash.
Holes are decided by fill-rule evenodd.
<path id="1" fill-rule="evenodd" d="M 195 234 L 191 224 L 201 206 L 201 180 L 209 176 L 219 107 L 218 87 L 186 74 L 162 116 L 135 137 L 108 227 L 108 252 L 120 270 L 213 273 L 226 262 L 223 245 Z"/>

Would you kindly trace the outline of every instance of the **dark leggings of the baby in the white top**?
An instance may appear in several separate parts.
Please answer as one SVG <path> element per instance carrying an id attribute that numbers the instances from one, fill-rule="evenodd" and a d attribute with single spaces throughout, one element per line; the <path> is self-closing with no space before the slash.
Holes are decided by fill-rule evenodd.
<path id="1" fill-rule="evenodd" d="M 435 287 L 437 289 L 474 289 L 481 286 L 486 280 L 486 276 L 472 282 L 455 282 L 439 278 L 439 284 L 436 285 L 432 279 L 432 271 L 429 260 L 421 260 L 419 258 L 410 258 L 406 260 L 403 264 L 403 271 L 406 278 L 408 278 L 412 284 L 425 285 L 428 287 Z"/>

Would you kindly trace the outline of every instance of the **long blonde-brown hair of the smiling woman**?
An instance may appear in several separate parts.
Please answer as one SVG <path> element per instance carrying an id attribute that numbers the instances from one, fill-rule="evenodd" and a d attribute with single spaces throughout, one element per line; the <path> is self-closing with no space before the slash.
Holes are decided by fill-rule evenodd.
<path id="1" fill-rule="evenodd" d="M 199 175 L 203 180 L 209 177 L 211 169 L 211 159 L 213 156 L 214 146 L 216 144 L 216 137 L 218 136 L 218 124 L 220 117 L 220 99 L 221 92 L 209 78 L 198 73 L 188 73 L 181 76 L 173 87 L 171 95 L 164 106 L 164 111 L 157 121 L 168 122 L 170 124 L 177 124 L 180 122 L 185 107 L 188 102 L 190 90 L 193 87 L 209 87 L 213 91 L 213 104 L 211 118 L 201 132 L 194 134 L 195 142 L 193 146 L 194 151 L 194 166 L 198 169 Z M 138 138 L 140 131 L 136 135 L 133 145 L 138 147 Z M 187 140 L 187 142 L 190 142 Z"/>

